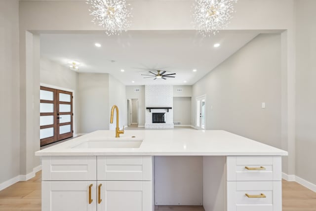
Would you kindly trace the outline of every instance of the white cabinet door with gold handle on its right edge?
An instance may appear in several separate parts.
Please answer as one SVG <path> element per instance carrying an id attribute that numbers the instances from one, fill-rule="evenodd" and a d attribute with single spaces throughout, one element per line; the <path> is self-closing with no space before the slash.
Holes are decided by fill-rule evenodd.
<path id="1" fill-rule="evenodd" d="M 42 211 L 96 211 L 96 204 L 96 181 L 42 182 Z"/>

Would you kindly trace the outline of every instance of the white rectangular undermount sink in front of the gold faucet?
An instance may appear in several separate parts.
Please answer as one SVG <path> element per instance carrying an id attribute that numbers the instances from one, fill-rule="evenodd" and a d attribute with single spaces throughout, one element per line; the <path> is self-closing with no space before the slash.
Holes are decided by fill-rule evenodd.
<path id="1" fill-rule="evenodd" d="M 142 144 L 142 139 L 96 139 L 96 140 L 87 140 L 77 146 L 72 148 L 139 148 Z"/>

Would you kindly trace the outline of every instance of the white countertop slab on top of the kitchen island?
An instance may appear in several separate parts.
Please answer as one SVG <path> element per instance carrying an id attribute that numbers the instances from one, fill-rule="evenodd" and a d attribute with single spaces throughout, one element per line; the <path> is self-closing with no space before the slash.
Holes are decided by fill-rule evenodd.
<path id="1" fill-rule="evenodd" d="M 143 139 L 139 148 L 73 148 L 88 140 Z M 286 156 L 287 152 L 224 130 L 97 130 L 40 150 L 36 156 Z"/>

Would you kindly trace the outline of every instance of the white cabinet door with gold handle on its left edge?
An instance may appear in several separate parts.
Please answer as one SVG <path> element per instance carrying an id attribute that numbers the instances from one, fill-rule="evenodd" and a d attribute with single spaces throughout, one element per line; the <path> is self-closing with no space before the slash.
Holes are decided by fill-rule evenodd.
<path id="1" fill-rule="evenodd" d="M 98 181 L 98 189 L 98 211 L 155 210 L 151 181 Z"/>

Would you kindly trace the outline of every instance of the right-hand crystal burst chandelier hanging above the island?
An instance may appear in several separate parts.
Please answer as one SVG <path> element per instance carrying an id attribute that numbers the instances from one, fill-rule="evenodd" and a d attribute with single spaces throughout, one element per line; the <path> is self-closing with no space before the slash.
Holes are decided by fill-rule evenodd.
<path id="1" fill-rule="evenodd" d="M 216 34 L 229 24 L 237 0 L 195 0 L 193 18 L 203 36 Z"/>

